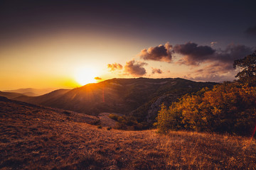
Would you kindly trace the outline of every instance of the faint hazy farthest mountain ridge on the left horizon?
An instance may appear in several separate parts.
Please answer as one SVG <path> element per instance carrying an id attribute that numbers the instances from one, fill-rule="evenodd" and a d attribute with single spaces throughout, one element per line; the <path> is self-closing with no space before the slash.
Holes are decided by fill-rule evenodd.
<path id="1" fill-rule="evenodd" d="M 26 88 L 26 89 L 16 89 L 16 90 L 6 90 L 3 92 L 18 93 L 26 96 L 41 96 L 43 94 L 48 94 L 50 91 L 53 91 L 53 90 L 54 90 L 53 88 L 48 88 L 48 89 Z"/>

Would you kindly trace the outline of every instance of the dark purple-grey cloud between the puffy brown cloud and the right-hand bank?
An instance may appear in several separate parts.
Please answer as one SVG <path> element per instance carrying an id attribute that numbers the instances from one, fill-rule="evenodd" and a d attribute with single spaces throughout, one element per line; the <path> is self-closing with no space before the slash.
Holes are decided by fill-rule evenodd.
<path id="1" fill-rule="evenodd" d="M 187 42 L 186 44 L 175 45 L 174 52 L 184 55 L 181 60 L 178 60 L 178 64 L 198 65 L 208 60 L 215 50 L 207 45 L 201 46 L 194 42 Z"/>

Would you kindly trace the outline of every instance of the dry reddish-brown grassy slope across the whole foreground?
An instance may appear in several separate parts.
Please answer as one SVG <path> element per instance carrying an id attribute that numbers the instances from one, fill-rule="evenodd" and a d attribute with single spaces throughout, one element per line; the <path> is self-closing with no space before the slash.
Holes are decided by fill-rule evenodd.
<path id="1" fill-rule="evenodd" d="M 93 119 L 93 118 L 92 118 Z M 98 129 L 90 118 L 0 101 L 0 169 L 255 169 L 247 137 Z"/>

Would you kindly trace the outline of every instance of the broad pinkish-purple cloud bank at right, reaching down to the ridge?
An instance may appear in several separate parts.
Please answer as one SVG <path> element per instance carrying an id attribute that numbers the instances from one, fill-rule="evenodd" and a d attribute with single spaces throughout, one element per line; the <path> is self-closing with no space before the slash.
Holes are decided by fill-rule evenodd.
<path id="1" fill-rule="evenodd" d="M 250 55 L 252 52 L 253 49 L 245 45 L 228 45 L 225 50 L 215 50 L 212 55 L 200 60 L 203 64 L 202 67 L 196 70 L 193 69 L 184 78 L 196 81 L 233 80 L 236 73 L 233 69 L 234 60 Z M 192 59 L 194 60 L 195 58 L 192 57 Z"/>

